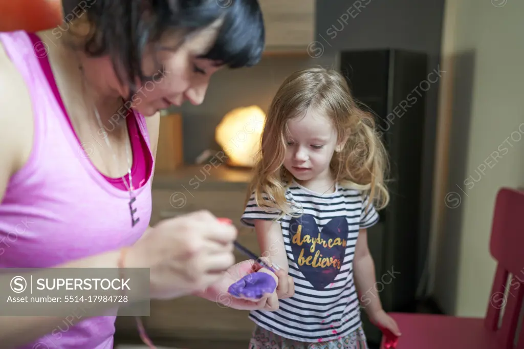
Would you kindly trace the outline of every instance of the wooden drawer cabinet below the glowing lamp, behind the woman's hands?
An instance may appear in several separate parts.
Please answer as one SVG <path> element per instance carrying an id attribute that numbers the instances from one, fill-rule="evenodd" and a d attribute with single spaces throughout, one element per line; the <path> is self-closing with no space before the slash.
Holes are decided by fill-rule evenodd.
<path id="1" fill-rule="evenodd" d="M 226 165 L 207 170 L 203 170 L 202 166 L 181 168 L 173 174 L 155 173 L 151 225 L 196 210 L 209 210 L 217 217 L 231 219 L 239 229 L 238 241 L 259 254 L 254 230 L 239 223 L 249 179 L 249 172 L 231 170 Z M 198 187 L 196 184 L 199 184 Z M 248 259 L 238 252 L 235 255 L 237 261 Z M 247 343 L 254 328 L 254 323 L 247 316 L 248 311 L 230 309 L 216 302 L 188 296 L 173 300 L 152 300 L 150 316 L 144 317 L 143 322 L 152 340 L 176 342 L 208 338 Z M 117 332 L 120 331 L 121 335 L 123 331 L 136 332 L 132 320 L 119 318 Z"/>

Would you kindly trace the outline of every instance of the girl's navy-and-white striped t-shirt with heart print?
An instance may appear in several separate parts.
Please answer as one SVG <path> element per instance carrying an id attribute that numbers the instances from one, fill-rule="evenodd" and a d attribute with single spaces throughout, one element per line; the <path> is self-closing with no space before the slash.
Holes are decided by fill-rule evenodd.
<path id="1" fill-rule="evenodd" d="M 288 202 L 301 208 L 298 218 L 279 222 L 288 256 L 294 296 L 280 299 L 277 311 L 255 310 L 249 318 L 268 331 L 301 342 L 324 342 L 344 337 L 362 325 L 353 282 L 353 256 L 358 231 L 378 222 L 372 204 L 360 191 L 336 184 L 334 193 L 320 194 L 293 181 Z M 274 220 L 279 214 L 259 208 L 254 196 L 241 221 Z"/>

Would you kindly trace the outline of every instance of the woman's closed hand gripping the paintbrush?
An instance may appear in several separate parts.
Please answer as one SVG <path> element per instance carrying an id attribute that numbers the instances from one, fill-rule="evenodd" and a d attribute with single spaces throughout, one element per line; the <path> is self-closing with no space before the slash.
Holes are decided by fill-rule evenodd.
<path id="1" fill-rule="evenodd" d="M 208 211 L 178 216 L 148 230 L 129 250 L 125 266 L 150 269 L 151 298 L 189 295 L 219 281 L 235 263 L 236 236 L 234 225 Z"/>

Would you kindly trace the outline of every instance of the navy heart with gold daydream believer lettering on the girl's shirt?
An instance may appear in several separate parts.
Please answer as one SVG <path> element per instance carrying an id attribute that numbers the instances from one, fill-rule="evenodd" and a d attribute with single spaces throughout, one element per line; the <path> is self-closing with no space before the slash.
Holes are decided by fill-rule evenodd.
<path id="1" fill-rule="evenodd" d="M 346 217 L 333 217 L 319 230 L 314 216 L 303 214 L 291 219 L 289 233 L 291 251 L 300 272 L 316 290 L 330 285 L 344 263 Z"/>

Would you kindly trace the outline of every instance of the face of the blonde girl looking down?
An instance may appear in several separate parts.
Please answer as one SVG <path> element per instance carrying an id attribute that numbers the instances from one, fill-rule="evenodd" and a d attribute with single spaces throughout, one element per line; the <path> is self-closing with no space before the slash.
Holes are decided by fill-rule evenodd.
<path id="1" fill-rule="evenodd" d="M 311 108 L 310 108 L 311 109 Z M 337 146 L 331 119 L 315 110 L 288 124 L 284 167 L 299 181 L 330 178 L 330 162 Z"/>

